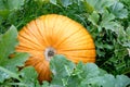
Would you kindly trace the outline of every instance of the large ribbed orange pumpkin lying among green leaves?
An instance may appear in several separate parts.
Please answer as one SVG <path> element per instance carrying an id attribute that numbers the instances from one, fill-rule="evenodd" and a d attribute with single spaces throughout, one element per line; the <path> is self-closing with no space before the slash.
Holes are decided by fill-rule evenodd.
<path id="1" fill-rule="evenodd" d="M 25 65 L 32 65 L 39 82 L 51 80 L 50 59 L 64 54 L 78 63 L 95 62 L 95 47 L 89 32 L 79 23 L 58 14 L 42 15 L 18 33 L 18 52 L 28 52 Z M 58 61 L 58 60 L 57 60 Z"/>

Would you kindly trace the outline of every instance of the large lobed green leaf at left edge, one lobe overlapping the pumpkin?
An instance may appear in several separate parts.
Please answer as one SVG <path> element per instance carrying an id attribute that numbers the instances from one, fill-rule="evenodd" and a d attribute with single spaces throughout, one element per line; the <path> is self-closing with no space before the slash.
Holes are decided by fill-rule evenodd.
<path id="1" fill-rule="evenodd" d="M 16 73 L 18 71 L 17 66 L 23 66 L 29 57 L 28 53 L 14 53 L 15 46 L 18 44 L 16 38 L 17 30 L 14 26 L 11 26 L 5 34 L 0 35 L 0 66 L 9 71 L 0 70 L 0 83 L 6 78 L 15 77 L 10 72 Z M 12 53 L 14 54 L 11 55 Z"/>

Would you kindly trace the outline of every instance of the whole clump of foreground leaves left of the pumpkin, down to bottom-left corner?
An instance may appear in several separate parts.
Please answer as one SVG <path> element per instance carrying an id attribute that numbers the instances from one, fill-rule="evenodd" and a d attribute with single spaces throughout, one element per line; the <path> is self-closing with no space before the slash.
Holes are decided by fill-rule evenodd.
<path id="1" fill-rule="evenodd" d="M 11 26 L 5 34 L 0 36 L 0 87 L 12 85 L 35 87 L 37 84 L 39 85 L 35 69 L 25 67 L 20 71 L 29 54 L 15 52 L 16 38 L 17 30 L 14 26 Z M 32 74 L 30 74 L 31 72 Z"/>

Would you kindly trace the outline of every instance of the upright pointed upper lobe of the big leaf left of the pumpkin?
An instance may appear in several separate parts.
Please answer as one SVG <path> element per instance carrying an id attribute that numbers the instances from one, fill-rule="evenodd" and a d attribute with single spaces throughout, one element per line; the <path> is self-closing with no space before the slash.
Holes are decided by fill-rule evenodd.
<path id="1" fill-rule="evenodd" d="M 0 39 L 0 64 L 3 60 L 8 59 L 8 57 L 15 51 L 15 46 L 18 44 L 17 41 L 17 30 L 14 26 L 11 26 L 10 29 L 1 35 Z"/>

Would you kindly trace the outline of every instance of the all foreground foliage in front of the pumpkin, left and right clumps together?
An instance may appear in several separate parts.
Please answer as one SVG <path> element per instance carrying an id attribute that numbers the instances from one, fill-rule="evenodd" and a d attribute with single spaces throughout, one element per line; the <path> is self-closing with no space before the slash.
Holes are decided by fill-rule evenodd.
<path id="1" fill-rule="evenodd" d="M 15 52 L 16 37 L 17 30 L 14 26 L 0 36 L 1 87 L 126 87 L 130 85 L 130 78 L 126 75 L 114 76 L 94 63 L 75 64 L 63 55 L 55 55 L 50 61 L 52 80 L 39 84 L 38 74 L 34 67 L 22 67 L 29 54 Z M 5 41 L 6 39 L 9 42 Z M 11 49 L 6 50 L 10 46 Z"/>

